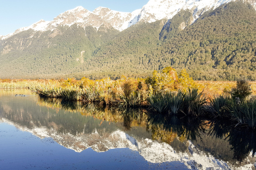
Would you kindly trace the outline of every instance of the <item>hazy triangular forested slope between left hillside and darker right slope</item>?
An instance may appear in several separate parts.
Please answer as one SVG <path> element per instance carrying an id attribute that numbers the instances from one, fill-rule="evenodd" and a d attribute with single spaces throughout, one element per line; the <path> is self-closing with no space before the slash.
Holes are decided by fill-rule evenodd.
<path id="1" fill-rule="evenodd" d="M 158 33 L 163 25 L 163 20 L 133 25 L 95 50 L 78 71 L 95 79 L 108 76 L 115 79 L 121 75 L 146 75 L 151 70 L 158 70 L 158 65 L 150 65 L 151 59 L 146 54 L 161 43 Z"/>

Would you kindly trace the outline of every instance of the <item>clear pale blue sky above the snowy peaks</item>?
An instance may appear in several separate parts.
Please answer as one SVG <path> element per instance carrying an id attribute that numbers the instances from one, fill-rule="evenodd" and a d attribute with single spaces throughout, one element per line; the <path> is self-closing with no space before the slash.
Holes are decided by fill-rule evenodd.
<path id="1" fill-rule="evenodd" d="M 59 14 L 77 6 L 93 11 L 99 6 L 120 12 L 142 8 L 149 0 L 0 0 L 0 35 L 43 19 L 52 21 Z"/>

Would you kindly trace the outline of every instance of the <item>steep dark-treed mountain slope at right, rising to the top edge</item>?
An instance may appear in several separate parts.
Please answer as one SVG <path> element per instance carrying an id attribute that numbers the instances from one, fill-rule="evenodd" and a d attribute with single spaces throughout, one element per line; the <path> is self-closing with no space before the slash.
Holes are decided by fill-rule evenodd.
<path id="1" fill-rule="evenodd" d="M 173 67 L 186 67 L 198 80 L 255 80 L 256 11 L 231 2 L 206 12 L 166 41 Z"/>

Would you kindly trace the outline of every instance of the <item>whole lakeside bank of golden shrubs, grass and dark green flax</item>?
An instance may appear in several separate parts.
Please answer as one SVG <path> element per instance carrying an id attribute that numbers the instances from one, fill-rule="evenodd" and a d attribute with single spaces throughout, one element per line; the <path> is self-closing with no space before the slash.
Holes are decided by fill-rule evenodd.
<path id="1" fill-rule="evenodd" d="M 154 71 L 146 79 L 0 81 L 0 88 L 28 88 L 41 97 L 108 107 L 145 107 L 150 113 L 165 117 L 225 118 L 250 128 L 256 127 L 255 86 L 246 81 L 194 81 L 185 69 L 177 74 L 171 67 Z"/>

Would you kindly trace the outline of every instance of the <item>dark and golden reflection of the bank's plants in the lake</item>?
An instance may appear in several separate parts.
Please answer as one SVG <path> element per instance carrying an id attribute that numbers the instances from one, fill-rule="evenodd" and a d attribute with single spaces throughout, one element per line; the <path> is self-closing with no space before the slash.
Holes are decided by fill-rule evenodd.
<path id="1" fill-rule="evenodd" d="M 188 152 L 190 140 L 205 154 L 210 153 L 215 158 L 236 166 L 245 164 L 245 158 L 248 160 L 251 151 L 252 156 L 256 152 L 255 130 L 235 127 L 227 120 L 163 116 L 150 114 L 146 109 L 108 108 L 49 98 L 41 98 L 39 104 L 80 112 L 84 116 L 93 116 L 102 121 L 119 122 L 126 131 L 137 126 L 145 127 L 151 132 L 153 140 L 169 143 L 176 151 Z M 250 161 L 253 162 L 254 159 Z"/>

